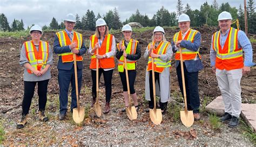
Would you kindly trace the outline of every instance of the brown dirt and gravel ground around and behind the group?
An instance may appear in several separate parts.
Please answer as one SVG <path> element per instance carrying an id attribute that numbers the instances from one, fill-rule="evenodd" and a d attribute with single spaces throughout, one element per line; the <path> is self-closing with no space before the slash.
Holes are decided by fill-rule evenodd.
<path id="1" fill-rule="evenodd" d="M 211 34 L 217 30 L 217 28 L 210 28 L 210 27 L 200 27 L 196 28 L 198 31 L 201 32 L 202 34 L 202 43 L 201 43 L 201 49 L 200 53 L 203 57 L 203 63 L 204 63 L 204 69 L 199 72 L 199 94 L 200 94 L 200 99 L 201 99 L 201 104 L 203 104 L 204 100 L 207 98 L 207 101 L 205 104 L 208 104 L 211 102 L 212 99 L 220 95 L 220 91 L 218 90 L 218 84 L 217 80 L 215 78 L 215 75 L 211 72 L 211 67 L 210 67 L 210 58 L 209 58 L 209 52 L 210 52 L 210 45 L 211 45 Z M 172 36 L 174 33 L 178 32 L 178 28 L 176 29 L 167 29 L 166 31 L 166 39 L 167 41 L 170 41 L 172 39 Z M 84 39 L 89 39 L 89 36 L 92 35 L 94 32 L 92 31 L 83 31 L 83 38 Z M 113 34 L 116 38 L 117 41 L 120 41 L 122 39 L 122 33 L 116 33 Z M 46 32 L 44 33 L 42 40 L 44 41 L 49 41 L 51 47 L 53 45 L 53 40 L 54 40 L 55 32 Z M 140 46 L 142 47 L 142 55 L 144 54 L 145 48 L 147 46 L 147 43 L 151 41 L 151 36 L 152 36 L 152 30 L 145 31 L 142 33 L 133 33 L 133 38 L 138 39 L 140 42 Z M 86 134 L 88 132 L 91 132 L 91 136 L 97 136 L 97 131 L 100 130 L 100 133 L 105 134 L 106 130 L 103 128 L 106 128 L 106 126 L 111 126 L 111 129 L 113 131 L 117 131 L 118 129 L 123 129 L 123 127 L 126 128 L 126 131 L 131 135 L 131 131 L 133 131 L 135 136 L 140 138 L 140 141 L 143 140 L 143 138 L 147 136 L 140 136 L 139 134 L 139 127 L 144 127 L 143 129 L 152 129 L 154 130 L 154 133 L 159 133 L 158 137 L 161 136 L 161 132 L 163 131 L 165 135 L 162 134 L 162 136 L 166 137 L 166 134 L 169 134 L 169 137 L 173 137 L 172 139 L 174 143 L 170 143 L 168 139 L 160 139 L 160 142 L 154 142 L 154 139 L 157 139 L 156 135 L 150 134 L 149 140 L 144 139 L 141 143 L 137 143 L 138 145 L 180 145 L 180 144 L 175 144 L 179 142 L 185 141 L 185 143 L 181 143 L 183 145 L 210 145 L 210 143 L 213 143 L 215 141 L 215 145 L 224 145 L 221 144 L 221 142 L 224 142 L 224 139 L 220 139 L 218 142 L 218 139 L 213 139 L 213 142 L 211 142 L 211 136 L 215 136 L 215 132 L 210 129 L 209 133 L 207 133 L 207 129 L 205 129 L 205 126 L 207 128 L 207 121 L 208 121 L 208 115 L 204 114 L 203 118 L 205 119 L 205 122 L 203 123 L 196 123 L 194 127 L 190 129 L 187 129 L 182 126 L 181 122 L 172 126 L 169 128 L 169 125 L 173 124 L 172 121 L 172 116 L 166 116 L 164 119 L 164 124 L 163 126 L 159 127 L 156 126 L 154 127 L 152 123 L 150 123 L 149 119 L 149 114 L 144 112 L 144 109 L 146 108 L 146 102 L 144 98 L 144 90 L 145 90 L 145 68 L 147 61 L 143 58 L 143 56 L 138 60 L 137 62 L 137 77 L 136 77 L 136 84 L 135 84 L 135 89 L 138 93 L 138 98 L 139 98 L 139 105 L 140 106 L 140 111 L 139 111 L 139 118 L 138 121 L 135 122 L 129 122 L 127 120 L 127 117 L 125 117 L 125 114 L 119 113 L 120 109 L 122 109 L 123 105 L 123 99 L 122 99 L 122 83 L 120 82 L 120 77 L 118 74 L 117 69 L 114 70 L 113 72 L 113 78 L 112 78 L 112 100 L 111 100 L 111 113 L 109 116 L 105 115 L 103 116 L 103 119 L 97 119 L 95 117 L 95 114 L 93 112 L 90 112 L 89 117 L 86 119 L 84 122 L 83 126 L 76 126 L 72 121 L 72 116 L 69 117 L 69 121 L 64 121 L 60 122 L 58 121 L 58 70 L 56 69 L 57 67 L 57 55 L 53 54 L 54 58 L 54 63 L 51 67 L 51 73 L 52 73 L 52 78 L 50 79 L 49 86 L 48 86 L 48 105 L 47 111 L 49 112 L 49 115 L 51 115 L 51 120 L 48 123 L 43 124 L 43 128 L 41 128 L 41 123 L 38 122 L 37 120 L 37 107 L 38 105 L 36 104 L 37 102 L 37 94 L 35 94 L 35 99 L 33 99 L 31 109 L 30 109 L 30 123 L 27 125 L 28 127 L 25 127 L 25 132 L 22 130 L 17 130 L 16 123 L 18 122 L 20 116 L 21 116 L 21 103 L 23 99 L 23 68 L 19 65 L 19 54 L 20 54 L 20 49 L 22 46 L 22 43 L 24 41 L 30 40 L 30 36 L 26 36 L 24 38 L 0 38 L 0 116 L 1 116 L 1 122 L 4 126 L 5 130 L 5 141 L 3 142 L 4 145 L 15 145 L 15 144 L 37 144 L 37 145 L 64 145 L 64 144 L 78 144 L 78 145 L 107 145 L 107 144 L 126 144 L 126 145 L 136 145 L 134 141 L 137 141 L 136 139 L 133 140 L 132 138 L 130 139 L 120 139 L 117 137 L 118 135 L 124 135 L 125 132 L 116 134 L 114 135 L 115 137 L 111 138 L 110 136 L 113 135 L 112 131 L 111 133 L 108 134 L 110 137 L 109 140 L 98 140 L 98 142 L 94 142 L 93 138 L 90 140 L 86 140 L 84 136 L 90 136 L 90 134 Z M 89 44 L 86 44 L 86 47 L 88 47 Z M 252 43 L 253 48 L 256 47 L 256 43 Z M 254 52 L 253 58 L 255 59 L 256 53 Z M 82 106 L 87 106 L 90 104 L 91 100 L 91 86 L 92 86 L 92 81 L 91 81 L 91 71 L 89 69 L 90 65 L 90 56 L 85 55 L 84 56 L 84 69 L 83 69 L 83 88 L 82 92 L 80 94 L 80 104 Z M 172 64 L 172 70 L 171 70 L 171 94 L 172 98 L 177 98 L 180 95 L 180 90 L 178 86 L 178 80 L 177 80 L 177 75 L 176 75 L 176 70 L 175 70 L 175 63 L 173 62 Z M 255 104 L 255 96 L 256 96 L 256 69 L 255 67 L 252 67 L 251 73 L 248 75 L 244 75 L 241 80 L 241 87 L 242 87 L 242 102 L 243 103 L 251 103 Z M 102 100 L 104 101 L 104 81 L 103 81 L 103 76 L 100 80 L 100 93 L 102 95 Z M 36 92 L 35 92 L 36 93 Z M 102 106 L 104 106 L 102 102 Z M 33 110 L 33 111 L 32 111 Z M 92 111 L 92 110 L 90 110 Z M 124 124 L 122 119 L 126 119 Z M 35 121 L 37 120 L 37 121 Z M 141 121 L 141 122 L 140 122 Z M 35 124 L 33 124 L 35 122 Z M 140 123 L 139 123 L 140 122 Z M 138 125 L 136 127 L 136 123 L 139 123 L 141 125 Z M 170 124 L 168 124 L 170 123 Z M 62 124 L 62 125 L 59 125 Z M 111 125 L 112 124 L 112 125 Z M 120 124 L 120 126 L 119 126 Z M 128 126 L 125 126 L 125 125 Z M 72 130 L 70 133 L 70 130 L 67 129 L 67 132 L 65 131 L 65 128 L 63 129 L 62 126 L 65 126 L 66 128 L 69 128 Z M 95 127 L 96 126 L 96 127 Z M 58 129 L 60 127 L 60 129 Z M 90 127 L 90 128 L 88 128 Z M 102 128 L 100 128 L 102 127 Z M 116 127 L 116 128 L 115 128 Z M 121 128 L 120 128 L 121 127 Z M 132 129 L 129 129 L 127 127 L 131 127 Z M 53 129 L 55 128 L 55 129 Z M 181 128 L 181 129 L 180 129 Z M 196 130 L 193 130 L 193 128 L 196 128 Z M 203 135 L 203 138 L 200 138 L 199 128 L 201 135 Z M 209 127 L 210 128 L 210 127 Z M 208 128 L 208 129 L 209 129 Z M 32 130 L 31 130 L 32 129 Z M 34 134 L 34 136 L 28 135 L 29 132 L 35 131 L 33 129 L 38 129 L 38 134 Z M 54 131 L 51 131 L 51 130 Z M 74 130 L 75 129 L 75 130 Z M 111 130 L 110 129 L 110 130 Z M 117 130 L 115 130 L 117 129 Z M 167 130 L 166 130 L 167 129 Z M 40 131 L 39 131 L 40 130 Z M 63 130 L 63 132 L 59 132 L 60 130 Z M 109 129 L 108 129 L 109 130 Z M 152 131 L 151 130 L 151 131 Z M 184 130 L 186 133 L 190 133 L 193 136 L 193 131 L 196 131 L 197 136 L 199 137 L 192 137 L 192 139 L 195 139 L 197 141 L 191 141 L 191 138 L 184 137 L 182 135 L 181 138 L 175 137 L 175 134 L 177 134 L 176 130 Z M 204 130 L 204 131 L 202 131 Z M 236 129 L 236 130 L 231 130 L 227 129 L 227 127 L 223 127 L 221 131 L 218 131 L 217 136 L 223 136 L 225 135 L 224 132 L 226 131 L 231 131 L 234 134 L 238 134 L 238 136 L 241 136 L 241 130 Z M 53 138 L 49 138 L 47 132 L 49 135 L 55 136 Z M 84 132 L 84 136 L 81 135 Z M 117 131 L 118 132 L 118 131 Z M 126 133 L 127 133 L 126 132 Z M 46 134 L 45 134 L 46 133 Z M 58 134 L 56 134 L 58 133 Z M 60 134 L 59 134 L 60 133 Z M 69 135 L 70 133 L 70 135 Z M 132 133 L 132 134 L 133 134 Z M 200 139 L 204 139 L 204 137 L 207 137 L 205 134 L 211 134 L 210 137 L 208 137 L 206 141 L 203 142 L 203 144 L 200 144 Z M 228 133 L 228 132 L 226 132 Z M 40 135 L 41 136 L 38 136 Z M 44 135 L 43 135 L 44 134 Z M 71 135 L 72 134 L 72 135 Z M 214 135 L 215 134 L 215 135 Z M 43 135 L 43 138 L 42 138 Z M 98 134 L 99 135 L 99 134 Z M 65 137 L 66 136 L 66 137 Z M 78 139 L 76 139 L 76 137 Z M 167 135 L 168 136 L 168 135 Z M 34 139 L 31 139 L 34 138 Z M 41 139 L 39 139 L 41 138 Z M 90 137 L 89 137 L 90 138 Z M 220 137 L 221 138 L 221 137 Z M 150 139 L 153 139 L 150 141 Z M 158 138 L 159 139 L 159 138 Z M 35 140 L 35 141 L 33 141 Z M 145 142 L 145 143 L 144 143 Z M 238 143 L 240 145 L 252 145 L 250 143 L 246 143 L 247 140 L 245 138 L 242 139 L 242 141 L 239 139 Z M 235 142 L 230 142 L 225 145 L 237 145 Z"/>

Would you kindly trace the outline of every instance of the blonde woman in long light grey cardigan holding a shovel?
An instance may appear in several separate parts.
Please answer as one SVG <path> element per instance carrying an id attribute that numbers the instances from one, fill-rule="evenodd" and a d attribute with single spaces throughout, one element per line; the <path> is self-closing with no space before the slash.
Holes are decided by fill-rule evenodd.
<path id="1" fill-rule="evenodd" d="M 154 76 L 156 83 L 156 95 L 160 96 L 159 104 L 164 114 L 167 101 L 170 98 L 170 68 L 172 58 L 172 46 L 165 39 L 164 28 L 154 28 L 152 42 L 147 46 L 144 58 L 148 60 L 145 80 L 145 98 L 149 101 L 149 108 L 154 107 L 153 82 L 152 82 L 152 58 L 154 58 Z M 149 112 L 149 109 L 146 110 Z"/>

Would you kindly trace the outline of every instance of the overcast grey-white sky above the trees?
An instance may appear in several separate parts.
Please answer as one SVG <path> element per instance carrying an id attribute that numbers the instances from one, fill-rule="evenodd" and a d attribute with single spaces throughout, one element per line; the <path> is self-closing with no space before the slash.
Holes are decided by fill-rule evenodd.
<path id="1" fill-rule="evenodd" d="M 52 17 L 55 17 L 58 23 L 63 21 L 68 13 L 78 14 L 80 19 L 85 15 L 87 9 L 92 10 L 97 17 L 101 16 L 115 7 L 118 10 L 120 20 L 124 21 L 138 9 L 140 13 L 147 14 L 152 18 L 153 14 L 164 6 L 169 12 L 177 12 L 176 5 L 178 0 L 0 0 L 0 13 L 4 13 L 11 25 L 14 19 L 23 19 L 24 27 L 31 24 L 40 26 L 49 25 Z M 200 9 L 200 6 L 206 0 L 182 0 L 183 6 L 188 3 L 191 9 Z M 213 0 L 207 0 L 211 5 Z M 232 7 L 238 9 L 239 4 L 244 6 L 242 0 L 217 0 L 217 3 L 229 3 Z"/>

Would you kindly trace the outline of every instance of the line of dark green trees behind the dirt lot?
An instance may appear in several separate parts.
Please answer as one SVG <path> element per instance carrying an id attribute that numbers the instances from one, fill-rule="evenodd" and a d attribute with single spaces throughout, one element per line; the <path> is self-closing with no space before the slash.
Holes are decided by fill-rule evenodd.
<path id="1" fill-rule="evenodd" d="M 125 21 L 121 22 L 119 13 L 116 8 L 109 10 L 102 16 L 98 13 L 97 17 L 92 10 L 87 10 L 85 15 L 80 17 L 76 14 L 76 26 L 75 29 L 80 30 L 95 30 L 95 21 L 98 18 L 103 18 L 110 29 L 117 30 L 120 29 L 123 25 L 130 22 L 140 23 L 144 27 L 152 26 L 177 26 L 177 19 L 181 13 L 186 13 L 190 16 L 191 26 L 218 26 L 218 14 L 223 11 L 230 12 L 233 19 L 238 19 L 240 22 L 241 30 L 245 30 L 244 26 L 244 8 L 239 5 L 239 8 L 231 7 L 229 3 L 218 4 L 217 0 L 213 0 L 213 3 L 209 5 L 205 2 L 200 6 L 200 9 L 192 10 L 190 5 L 187 3 L 185 6 L 178 0 L 176 12 L 169 12 L 167 9 L 162 6 L 150 19 L 147 14 L 142 14 L 137 11 Z M 248 32 L 256 33 L 256 12 L 254 11 L 254 0 L 247 1 L 247 19 L 248 19 Z M 28 27 L 29 28 L 29 27 Z M 43 30 L 51 29 L 57 30 L 65 28 L 64 23 L 61 22 L 58 24 L 58 21 L 53 17 L 49 26 L 44 25 Z M 0 14 L 0 30 L 2 31 L 22 31 L 24 30 L 23 20 L 15 20 L 12 22 L 11 27 L 8 23 L 7 18 L 2 13 Z"/>

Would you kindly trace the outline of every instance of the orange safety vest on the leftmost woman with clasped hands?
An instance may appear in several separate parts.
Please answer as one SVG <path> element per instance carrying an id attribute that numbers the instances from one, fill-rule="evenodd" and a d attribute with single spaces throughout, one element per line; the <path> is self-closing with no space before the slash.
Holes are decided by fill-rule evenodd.
<path id="1" fill-rule="evenodd" d="M 29 64 L 36 70 L 41 71 L 41 69 L 44 69 L 49 55 L 49 43 L 40 41 L 38 51 L 32 40 L 24 42 L 23 45 L 25 46 L 26 58 L 28 58 Z M 29 69 L 27 71 L 33 73 Z"/>

